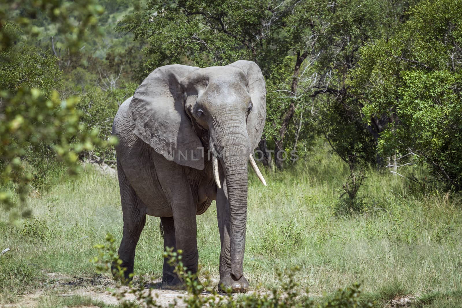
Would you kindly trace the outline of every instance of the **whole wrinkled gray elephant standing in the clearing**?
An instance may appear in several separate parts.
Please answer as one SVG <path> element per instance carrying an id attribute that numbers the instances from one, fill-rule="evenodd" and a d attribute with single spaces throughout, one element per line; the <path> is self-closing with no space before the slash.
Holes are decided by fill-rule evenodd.
<path id="1" fill-rule="evenodd" d="M 120 106 L 112 133 L 119 138 L 119 254 L 127 276 L 133 272 L 146 214 L 161 217 L 164 248 L 182 249 L 184 266 L 197 272 L 196 215 L 217 200 L 219 289 L 249 290 L 243 276 L 247 164 L 261 138 L 265 97 L 260 68 L 239 60 L 207 68 L 159 67 Z M 213 179 L 212 154 L 219 157 L 220 189 Z M 165 260 L 162 279 L 164 287 L 181 287 Z"/>

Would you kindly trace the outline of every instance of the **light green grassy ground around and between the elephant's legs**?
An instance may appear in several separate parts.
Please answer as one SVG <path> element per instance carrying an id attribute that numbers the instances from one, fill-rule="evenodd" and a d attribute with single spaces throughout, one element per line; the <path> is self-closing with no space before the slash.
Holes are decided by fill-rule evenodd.
<path id="1" fill-rule="evenodd" d="M 417 306 L 460 305 L 461 197 L 366 169 L 359 211 L 351 212 L 339 200 L 348 174 L 338 157 L 320 151 L 296 169 L 267 173 L 268 187 L 250 175 L 244 272 L 251 286 L 272 286 L 275 268 L 299 266 L 300 287 L 313 294 L 358 281 L 364 298 L 379 305 L 406 294 L 419 296 Z M 0 250 L 11 248 L 0 258 L 0 303 L 43 285 L 45 272 L 91 277 L 93 245 L 107 232 L 122 236 L 117 180 L 94 171 L 31 196 L 29 205 L 34 218 L 14 225 L 0 212 Z M 161 276 L 158 225 L 159 218 L 148 217 L 135 273 Z M 219 276 L 214 203 L 198 217 L 198 245 L 203 269 Z"/>

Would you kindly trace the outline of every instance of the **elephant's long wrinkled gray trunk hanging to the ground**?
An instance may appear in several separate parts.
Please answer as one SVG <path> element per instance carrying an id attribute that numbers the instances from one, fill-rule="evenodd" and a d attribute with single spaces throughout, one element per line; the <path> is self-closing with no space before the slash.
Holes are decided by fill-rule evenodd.
<path id="1" fill-rule="evenodd" d="M 218 142 L 214 145 L 225 172 L 229 203 L 231 275 L 238 280 L 243 276 L 250 142 L 245 124 L 237 124 L 234 121 L 228 127 L 223 125 L 219 127 L 221 128 L 219 135 L 225 137 L 217 136 L 216 141 Z"/>

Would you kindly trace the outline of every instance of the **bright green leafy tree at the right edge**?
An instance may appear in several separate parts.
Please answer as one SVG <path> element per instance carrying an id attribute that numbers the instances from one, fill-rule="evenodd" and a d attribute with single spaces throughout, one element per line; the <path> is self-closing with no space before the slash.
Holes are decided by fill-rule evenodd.
<path id="1" fill-rule="evenodd" d="M 462 2 L 424 0 L 407 18 L 396 35 L 361 48 L 351 85 L 366 119 L 390 119 L 378 142 L 384 156 L 413 153 L 460 191 Z"/>

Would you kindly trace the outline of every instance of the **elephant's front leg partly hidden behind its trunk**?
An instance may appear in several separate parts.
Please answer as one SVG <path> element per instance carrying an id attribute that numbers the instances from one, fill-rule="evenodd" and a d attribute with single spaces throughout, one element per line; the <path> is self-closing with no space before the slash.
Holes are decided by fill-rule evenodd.
<path id="1" fill-rule="evenodd" d="M 224 176 L 220 175 L 220 178 L 224 179 Z M 226 292 L 231 289 L 233 293 L 245 293 L 249 290 L 249 282 L 247 279 L 244 276 L 240 279 L 236 279 L 231 275 L 229 203 L 227 195 L 226 181 L 222 180 L 221 189 L 217 192 L 217 218 L 221 242 L 220 281 L 218 283 L 218 290 L 220 292 Z"/>

